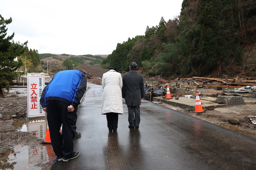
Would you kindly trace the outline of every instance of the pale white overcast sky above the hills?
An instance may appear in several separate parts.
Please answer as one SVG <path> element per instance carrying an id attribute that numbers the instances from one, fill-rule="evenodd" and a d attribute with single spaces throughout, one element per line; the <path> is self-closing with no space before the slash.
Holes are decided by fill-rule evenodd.
<path id="1" fill-rule="evenodd" d="M 0 0 L 0 14 L 12 17 L 7 35 L 28 41 L 39 54 L 107 55 L 130 37 L 145 35 L 180 14 L 183 0 Z"/>

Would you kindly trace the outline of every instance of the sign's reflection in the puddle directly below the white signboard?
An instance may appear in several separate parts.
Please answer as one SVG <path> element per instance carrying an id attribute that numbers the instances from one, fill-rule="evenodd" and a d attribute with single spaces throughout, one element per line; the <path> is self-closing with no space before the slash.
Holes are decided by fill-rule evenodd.
<path id="1" fill-rule="evenodd" d="M 33 133 L 37 138 L 44 139 L 46 122 L 28 123 L 28 132 Z"/>

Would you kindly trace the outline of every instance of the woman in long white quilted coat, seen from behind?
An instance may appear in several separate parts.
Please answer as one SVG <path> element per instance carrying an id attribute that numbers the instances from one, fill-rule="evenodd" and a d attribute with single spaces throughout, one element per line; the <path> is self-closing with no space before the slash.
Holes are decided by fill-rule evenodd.
<path id="1" fill-rule="evenodd" d="M 115 132 L 118 114 L 124 114 L 121 91 L 123 87 L 122 76 L 111 67 L 108 72 L 103 74 L 101 85 L 103 87 L 101 114 L 107 115 L 109 132 L 112 130 Z"/>

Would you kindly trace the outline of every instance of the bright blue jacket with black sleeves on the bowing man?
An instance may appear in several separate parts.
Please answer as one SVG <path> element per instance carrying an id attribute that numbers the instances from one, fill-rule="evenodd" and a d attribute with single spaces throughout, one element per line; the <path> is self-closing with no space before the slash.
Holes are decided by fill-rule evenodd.
<path id="1" fill-rule="evenodd" d="M 44 88 L 40 99 L 42 107 L 48 100 L 59 100 L 76 108 L 86 90 L 87 78 L 79 70 L 63 70 L 55 74 L 52 81 Z"/>

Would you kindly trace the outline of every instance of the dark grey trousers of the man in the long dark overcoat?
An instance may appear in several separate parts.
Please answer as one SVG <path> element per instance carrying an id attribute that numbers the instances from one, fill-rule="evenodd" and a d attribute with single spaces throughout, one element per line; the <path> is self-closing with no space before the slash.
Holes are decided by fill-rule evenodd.
<path id="1" fill-rule="evenodd" d="M 140 105 L 128 106 L 128 121 L 130 126 L 139 126 L 140 124 Z"/>

